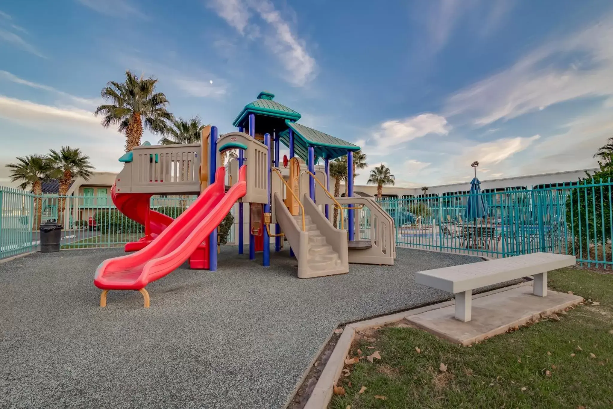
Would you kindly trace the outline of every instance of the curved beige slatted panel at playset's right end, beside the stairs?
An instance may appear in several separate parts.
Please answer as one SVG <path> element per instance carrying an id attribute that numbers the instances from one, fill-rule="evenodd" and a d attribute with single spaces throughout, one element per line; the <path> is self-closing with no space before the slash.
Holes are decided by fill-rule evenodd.
<path id="1" fill-rule="evenodd" d="M 370 209 L 370 220 L 368 220 L 370 232 L 368 233 L 370 233 L 372 247 L 364 250 L 349 250 L 349 262 L 393 266 L 396 258 L 394 219 L 370 197 L 337 197 L 336 199 L 343 207 L 362 205 Z M 365 218 L 366 214 L 363 210 L 354 210 L 356 240 L 369 240 L 361 239 L 359 230 L 360 218 Z M 345 228 L 347 228 L 346 224 Z"/>

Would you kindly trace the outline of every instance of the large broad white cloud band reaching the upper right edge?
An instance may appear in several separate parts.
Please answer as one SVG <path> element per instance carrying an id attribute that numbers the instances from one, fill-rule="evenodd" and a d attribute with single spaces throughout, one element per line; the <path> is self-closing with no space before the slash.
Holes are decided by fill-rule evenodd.
<path id="1" fill-rule="evenodd" d="M 447 101 L 446 115 L 474 115 L 475 124 L 509 120 L 582 97 L 613 95 L 613 18 L 539 47 L 513 66 Z M 557 63 L 557 61 L 571 61 Z"/>

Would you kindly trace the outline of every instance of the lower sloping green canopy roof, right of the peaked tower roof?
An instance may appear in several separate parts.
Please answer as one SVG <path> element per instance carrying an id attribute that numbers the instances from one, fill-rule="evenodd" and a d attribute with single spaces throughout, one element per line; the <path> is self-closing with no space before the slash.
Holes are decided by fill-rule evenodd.
<path id="1" fill-rule="evenodd" d="M 360 147 L 346 140 L 338 139 L 317 129 L 309 128 L 289 120 L 285 121 L 294 132 L 294 154 L 308 162 L 308 147 L 314 148 L 315 162 L 319 158 L 335 159 L 347 155 L 347 151 L 357 151 Z M 281 142 L 289 147 L 289 129 L 279 134 Z"/>

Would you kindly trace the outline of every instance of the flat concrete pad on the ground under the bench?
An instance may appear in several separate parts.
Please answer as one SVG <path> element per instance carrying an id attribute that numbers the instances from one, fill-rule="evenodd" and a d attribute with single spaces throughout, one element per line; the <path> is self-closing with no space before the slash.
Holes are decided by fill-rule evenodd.
<path id="1" fill-rule="evenodd" d="M 466 323 L 455 319 L 454 305 L 405 319 L 453 343 L 470 345 L 582 301 L 582 297 L 557 291 L 547 292 L 547 297 L 535 297 L 531 286 L 519 286 L 474 299 L 473 319 Z"/>

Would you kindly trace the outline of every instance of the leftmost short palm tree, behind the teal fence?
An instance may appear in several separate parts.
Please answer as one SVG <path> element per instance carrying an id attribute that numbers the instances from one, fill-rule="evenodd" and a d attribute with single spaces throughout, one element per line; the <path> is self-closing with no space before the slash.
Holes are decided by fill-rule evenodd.
<path id="1" fill-rule="evenodd" d="M 20 188 L 25 189 L 31 186 L 32 193 L 36 196 L 34 207 L 36 207 L 36 220 L 32 221 L 36 228 L 42 219 L 42 182 L 45 179 L 53 178 L 55 169 L 51 166 L 48 158 L 43 155 L 18 156 L 17 163 L 6 165 L 10 169 L 9 178 L 11 182 L 21 182 Z"/>

